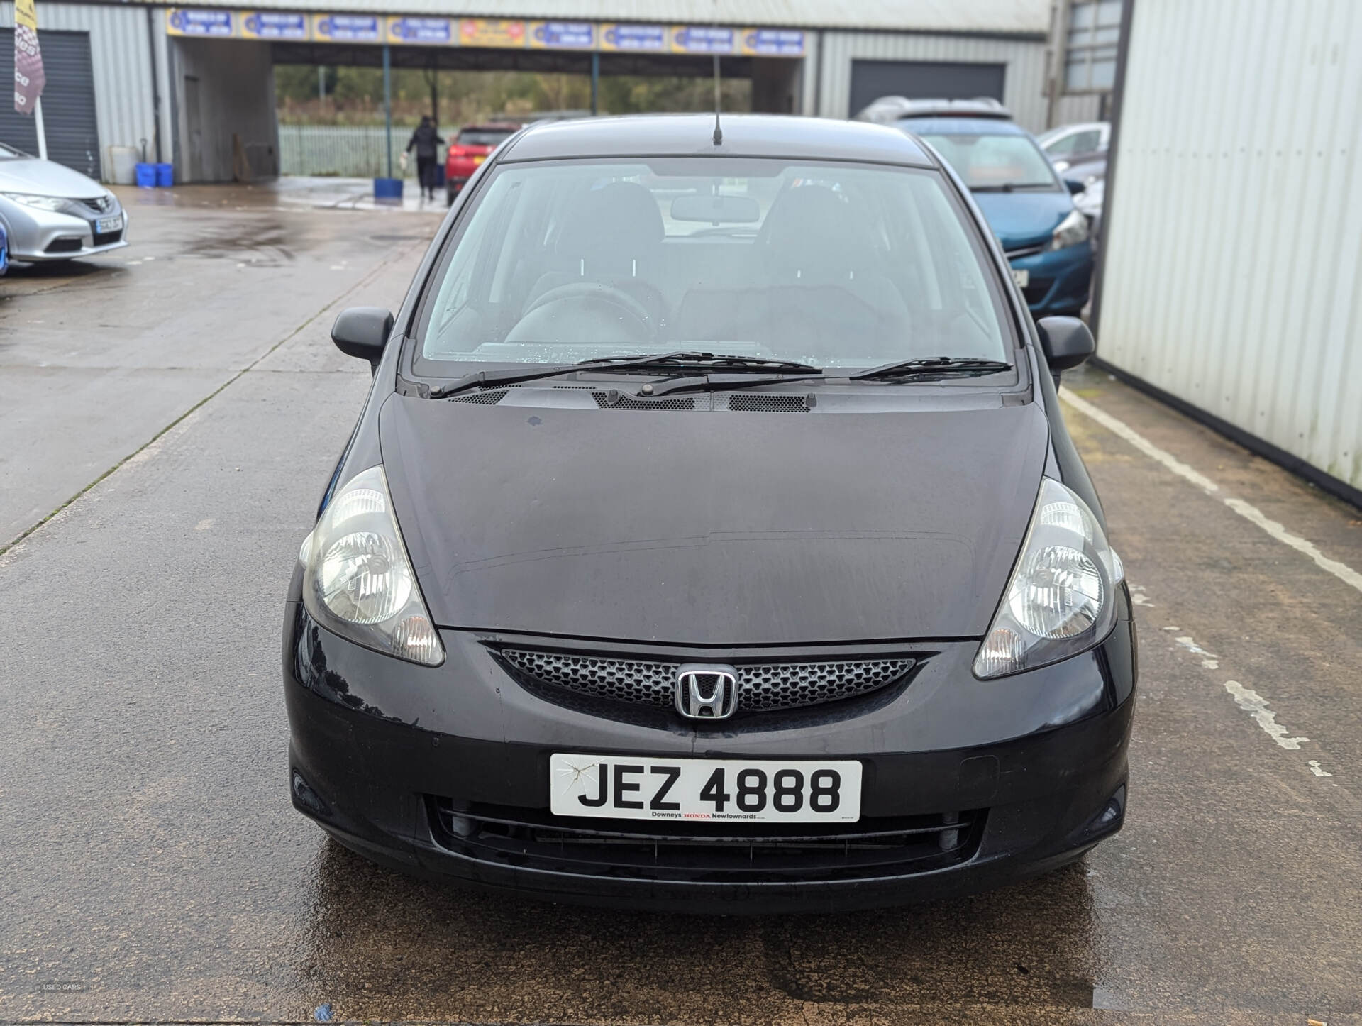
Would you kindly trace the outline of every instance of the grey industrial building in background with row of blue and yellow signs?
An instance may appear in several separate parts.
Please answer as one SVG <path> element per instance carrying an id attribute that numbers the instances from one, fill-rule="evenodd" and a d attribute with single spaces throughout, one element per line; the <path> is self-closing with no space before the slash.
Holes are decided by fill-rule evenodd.
<path id="1" fill-rule="evenodd" d="M 1110 0 L 1106 0 L 1110 3 Z M 753 108 L 847 117 L 884 94 L 993 95 L 1017 121 L 1094 117 L 1100 89 L 1066 93 L 1073 10 L 1095 0 L 210 0 L 196 7 L 38 0 L 49 68 L 48 149 L 106 181 L 136 159 L 178 181 L 278 172 L 276 63 L 708 74 L 752 79 Z M 14 4 L 0 3 L 0 75 Z M 31 150 L 31 119 L 0 139 Z"/>

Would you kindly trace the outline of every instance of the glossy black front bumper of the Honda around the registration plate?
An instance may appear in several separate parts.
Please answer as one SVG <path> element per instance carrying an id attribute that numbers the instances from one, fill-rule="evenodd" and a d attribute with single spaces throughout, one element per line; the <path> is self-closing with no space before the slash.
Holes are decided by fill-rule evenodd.
<path id="1" fill-rule="evenodd" d="M 832 912 L 983 890 L 1073 861 L 1121 828 L 1136 679 L 1128 606 L 1124 617 L 1092 651 L 1015 677 L 975 680 L 978 642 L 913 644 L 919 664 L 908 683 L 872 702 L 696 730 L 676 717 L 663 726 L 629 722 L 531 694 L 492 654 L 505 638 L 443 631 L 447 658 L 430 669 L 355 646 L 290 602 L 290 793 L 300 812 L 375 861 L 553 901 Z M 842 649 L 836 658 L 859 654 Z M 659 854 L 676 850 L 673 837 L 650 860 L 639 854 L 647 841 L 607 835 L 650 823 L 549 813 L 548 762 L 557 751 L 855 758 L 864 767 L 855 828 L 917 835 L 873 864 L 835 834 L 816 838 L 816 850 L 774 858 L 768 837 L 746 835 L 723 838 L 722 853 L 706 835 L 681 856 Z M 744 850 L 749 862 L 738 865 L 734 852 L 741 862 Z M 750 861 L 756 852 L 764 861 Z"/>

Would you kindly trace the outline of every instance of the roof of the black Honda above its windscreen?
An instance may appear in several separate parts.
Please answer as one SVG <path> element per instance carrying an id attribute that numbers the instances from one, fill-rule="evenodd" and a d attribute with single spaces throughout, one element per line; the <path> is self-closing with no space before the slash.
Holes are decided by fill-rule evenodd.
<path id="1" fill-rule="evenodd" d="M 934 168 L 913 139 L 887 125 L 780 114 L 631 114 L 535 124 L 518 135 L 503 161 L 572 157 L 789 157 Z"/>

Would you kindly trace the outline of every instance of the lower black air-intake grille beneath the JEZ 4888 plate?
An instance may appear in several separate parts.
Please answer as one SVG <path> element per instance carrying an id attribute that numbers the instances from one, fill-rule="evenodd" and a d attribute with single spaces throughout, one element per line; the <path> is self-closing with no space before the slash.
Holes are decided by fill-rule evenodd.
<path id="1" fill-rule="evenodd" d="M 983 811 L 859 823 L 601 820 L 426 796 L 430 833 L 451 852 L 561 873 L 689 883 L 854 880 L 967 861 Z"/>

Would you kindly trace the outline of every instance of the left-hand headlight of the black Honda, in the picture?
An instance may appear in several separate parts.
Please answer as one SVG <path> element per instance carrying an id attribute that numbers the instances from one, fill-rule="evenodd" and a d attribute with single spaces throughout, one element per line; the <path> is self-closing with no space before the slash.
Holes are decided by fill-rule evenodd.
<path id="1" fill-rule="evenodd" d="M 381 466 L 355 474 L 335 493 L 298 560 L 305 567 L 302 604 L 319 624 L 399 659 L 444 662 Z"/>

